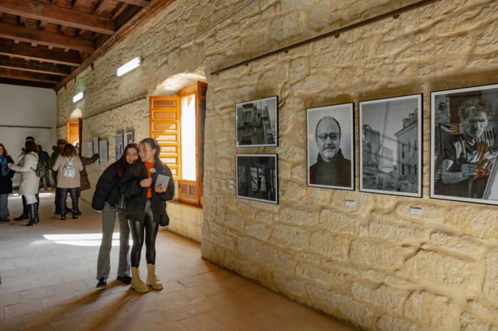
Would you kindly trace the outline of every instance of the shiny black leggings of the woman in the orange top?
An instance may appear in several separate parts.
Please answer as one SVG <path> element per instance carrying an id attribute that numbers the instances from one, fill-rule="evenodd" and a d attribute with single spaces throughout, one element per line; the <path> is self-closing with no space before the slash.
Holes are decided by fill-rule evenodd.
<path id="1" fill-rule="evenodd" d="M 129 229 L 132 232 L 133 246 L 130 254 L 132 266 L 138 268 L 140 264 L 140 255 L 142 255 L 142 246 L 145 239 L 145 259 L 147 264 L 156 263 L 156 237 L 159 229 L 159 222 L 154 222 L 152 214 L 151 200 L 147 199 L 145 205 L 144 222 L 128 220 Z M 144 238 L 145 237 L 145 238 Z"/>

